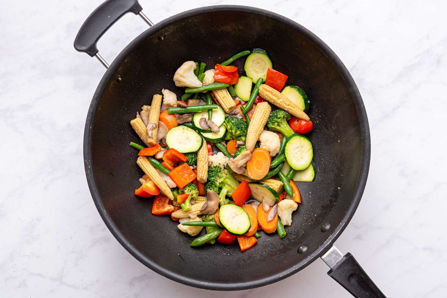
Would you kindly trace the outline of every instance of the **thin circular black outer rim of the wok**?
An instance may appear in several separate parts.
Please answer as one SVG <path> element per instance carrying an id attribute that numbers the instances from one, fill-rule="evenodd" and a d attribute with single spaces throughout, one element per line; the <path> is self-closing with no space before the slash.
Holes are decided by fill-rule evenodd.
<path id="1" fill-rule="evenodd" d="M 156 33 L 158 30 L 163 29 L 164 27 L 171 25 L 172 23 L 179 21 L 181 19 L 193 17 L 196 15 L 200 15 L 203 13 L 209 12 L 243 12 L 243 13 L 253 13 L 262 16 L 267 16 L 275 19 L 276 21 L 280 21 L 285 23 L 288 26 L 298 30 L 301 34 L 304 34 L 309 40 L 314 42 L 320 50 L 322 50 L 325 55 L 331 59 L 334 65 L 337 67 L 340 74 L 346 80 L 348 87 L 351 90 L 351 93 L 354 97 L 354 102 L 356 105 L 361 132 L 362 132 L 362 160 L 360 173 L 358 176 L 358 186 L 354 193 L 354 197 L 349 208 L 346 210 L 346 214 L 344 215 L 340 224 L 335 228 L 331 235 L 329 235 L 328 239 L 326 239 L 323 243 L 321 243 L 320 247 L 316 248 L 311 254 L 309 254 L 306 258 L 300 261 L 295 266 L 291 266 L 288 269 L 283 270 L 280 273 L 272 274 L 267 277 L 259 278 L 253 281 L 246 282 L 235 282 L 235 283 L 223 283 L 223 282 L 207 282 L 201 281 L 194 278 L 184 277 L 181 274 L 178 274 L 174 271 L 166 269 L 155 262 L 153 262 L 147 256 L 144 256 L 143 253 L 139 252 L 136 248 L 134 248 L 131 243 L 122 235 L 119 231 L 118 227 L 112 221 L 110 215 L 105 211 L 105 207 L 101 201 L 101 197 L 97 190 L 97 185 L 93 176 L 92 171 L 92 161 L 90 159 L 91 156 L 91 139 L 92 139 L 92 127 L 93 120 L 95 118 L 95 112 L 97 109 L 97 105 L 101 99 L 101 96 L 107 86 L 107 83 L 110 80 L 110 77 L 117 70 L 122 61 L 127 57 L 127 55 L 131 52 L 134 46 L 141 41 L 141 39 L 146 38 L 149 35 Z M 357 85 L 354 82 L 354 79 L 350 75 L 349 71 L 346 69 L 345 65 L 342 61 L 337 57 L 337 55 L 326 45 L 320 38 L 318 38 L 315 34 L 313 34 L 308 29 L 304 28 L 302 25 L 299 25 L 295 21 L 287 17 L 283 17 L 277 13 L 270 12 L 268 10 L 264 10 L 261 8 L 254 8 L 250 6 L 241 6 L 241 5 L 215 5 L 215 6 L 206 6 L 201 8 L 194 8 L 182 13 L 178 13 L 172 17 L 164 19 L 148 28 L 141 34 L 139 34 L 132 42 L 130 42 L 114 59 L 114 61 L 110 64 L 110 67 L 105 71 L 105 74 L 102 76 L 101 81 L 98 84 L 98 87 L 93 95 L 92 101 L 90 103 L 89 111 L 87 113 L 87 119 L 85 122 L 84 128 L 84 168 L 85 175 L 87 177 L 87 182 L 89 185 L 90 193 L 92 195 L 93 201 L 101 218 L 105 222 L 105 225 L 108 227 L 112 235 L 118 240 L 118 242 L 137 260 L 146 265 L 148 268 L 152 269 L 156 273 L 161 274 L 164 277 L 167 277 L 173 281 L 177 281 L 184 285 L 190 285 L 196 288 L 207 289 L 207 290 L 246 290 L 252 289 L 256 287 L 260 287 L 263 285 L 269 285 L 276 281 L 280 281 L 286 277 L 291 276 L 304 269 L 306 266 L 311 264 L 318 257 L 323 255 L 335 242 L 335 240 L 341 235 L 341 233 L 346 228 L 347 224 L 350 222 L 353 217 L 355 210 L 358 207 L 358 204 L 362 198 L 363 191 L 366 186 L 367 176 L 370 165 L 370 157 L 371 157 L 371 139 L 370 139 L 370 130 L 368 124 L 367 113 L 365 110 L 365 106 L 363 104 L 362 97 L 360 92 L 358 91 Z"/>

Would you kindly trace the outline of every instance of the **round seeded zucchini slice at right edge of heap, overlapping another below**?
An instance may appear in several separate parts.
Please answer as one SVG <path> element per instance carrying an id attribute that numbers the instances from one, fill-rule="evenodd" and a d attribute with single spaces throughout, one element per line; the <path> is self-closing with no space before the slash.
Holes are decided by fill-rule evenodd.
<path id="1" fill-rule="evenodd" d="M 284 149 L 287 163 L 294 170 L 304 170 L 312 162 L 313 149 L 309 139 L 301 134 L 292 134 Z"/>

